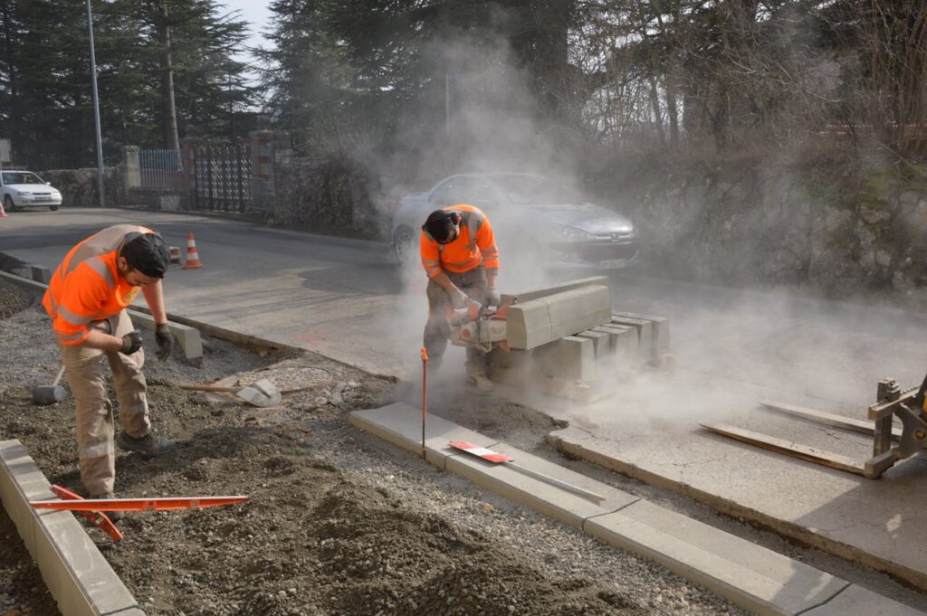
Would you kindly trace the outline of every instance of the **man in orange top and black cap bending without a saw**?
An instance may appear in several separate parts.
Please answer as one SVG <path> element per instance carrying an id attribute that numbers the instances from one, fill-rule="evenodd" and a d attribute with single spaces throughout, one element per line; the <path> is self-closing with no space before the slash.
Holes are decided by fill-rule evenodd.
<path id="1" fill-rule="evenodd" d="M 90 497 L 112 498 L 116 478 L 113 409 L 102 358 L 113 373 L 122 431 L 116 445 L 146 457 L 170 453 L 171 441 L 152 432 L 148 418 L 142 334 L 125 308 L 141 291 L 155 321 L 156 355 L 171 356 L 161 279 L 171 261 L 164 240 L 146 227 L 120 224 L 74 246 L 55 270 L 43 305 L 77 407 L 81 480 Z"/>

